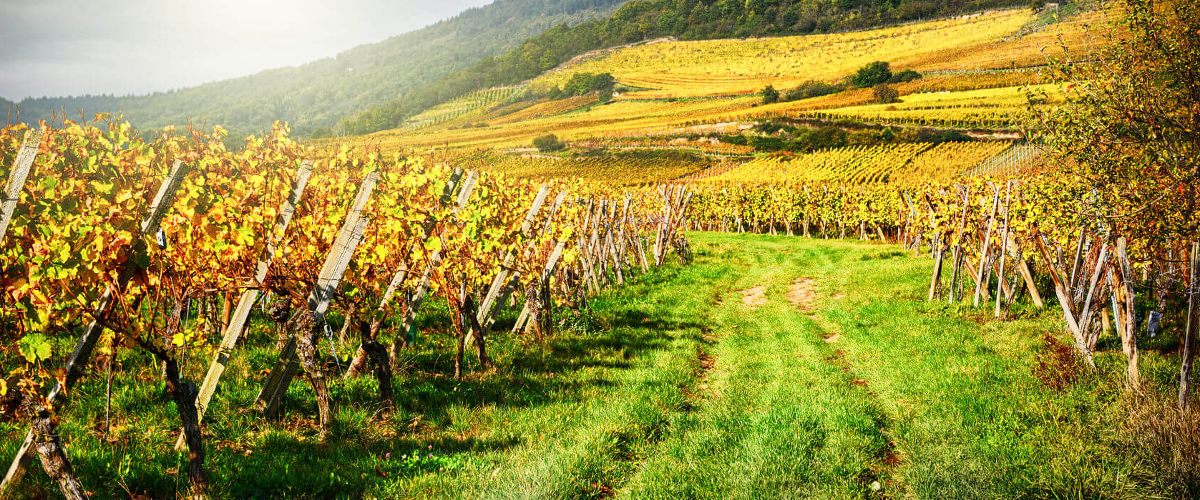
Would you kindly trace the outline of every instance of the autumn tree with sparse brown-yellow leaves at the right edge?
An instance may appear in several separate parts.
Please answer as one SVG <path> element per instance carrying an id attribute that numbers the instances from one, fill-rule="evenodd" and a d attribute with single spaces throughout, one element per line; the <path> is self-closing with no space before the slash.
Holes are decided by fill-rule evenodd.
<path id="1" fill-rule="evenodd" d="M 1110 43 L 1090 54 L 1088 61 L 1051 61 L 1054 77 L 1068 82 L 1068 102 L 1054 110 L 1033 108 L 1044 131 L 1040 138 L 1078 186 L 1082 223 L 1103 228 L 1111 240 L 1145 241 L 1151 257 L 1187 241 L 1195 254 L 1200 252 L 1200 6 L 1124 0 L 1118 12 L 1122 18 L 1105 31 Z M 1044 96 L 1030 92 L 1031 102 L 1038 98 Z M 1195 259 L 1192 267 L 1181 408 L 1188 405 L 1200 329 Z"/>

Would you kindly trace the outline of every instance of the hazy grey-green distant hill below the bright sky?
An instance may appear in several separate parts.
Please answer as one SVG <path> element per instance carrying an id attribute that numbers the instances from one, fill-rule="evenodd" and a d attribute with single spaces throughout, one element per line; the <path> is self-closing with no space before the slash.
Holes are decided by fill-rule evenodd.
<path id="1" fill-rule="evenodd" d="M 184 125 L 188 119 L 222 125 L 232 138 L 258 133 L 275 120 L 301 135 L 395 100 L 480 59 L 503 54 L 552 26 L 604 18 L 626 0 L 497 0 L 425 29 L 359 46 L 299 67 L 146 96 L 26 98 L 20 119 L 36 122 L 54 110 L 78 116 L 124 112 L 139 128 Z M 0 110 L 8 109 L 0 100 Z"/>

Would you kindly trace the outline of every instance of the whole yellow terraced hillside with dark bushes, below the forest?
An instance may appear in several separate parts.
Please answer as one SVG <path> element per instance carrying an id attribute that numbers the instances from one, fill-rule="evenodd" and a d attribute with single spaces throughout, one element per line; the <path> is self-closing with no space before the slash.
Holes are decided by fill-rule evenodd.
<path id="1" fill-rule="evenodd" d="M 1025 151 L 1027 91 L 1044 94 L 1043 106 L 1062 101 L 1044 78 L 1046 55 L 1060 42 L 1092 43 L 1088 26 L 1103 20 L 1081 5 L 1061 14 L 1018 8 L 845 34 L 631 44 L 541 73 L 524 98 L 510 88 L 476 92 L 508 97 L 485 106 L 468 96 L 402 128 L 317 144 L 432 151 L 436 162 L 520 177 L 620 185 L 1019 171 L 1038 158 L 1013 153 Z M 919 78 L 890 84 L 895 101 L 877 103 L 872 89 L 847 83 L 872 61 Z M 598 73 L 617 82 L 611 102 L 596 92 L 538 97 Z M 779 102 L 764 102 L 768 85 L 785 94 Z M 786 96 L 802 89 L 824 90 Z M 562 150 L 530 147 L 551 133 Z"/>

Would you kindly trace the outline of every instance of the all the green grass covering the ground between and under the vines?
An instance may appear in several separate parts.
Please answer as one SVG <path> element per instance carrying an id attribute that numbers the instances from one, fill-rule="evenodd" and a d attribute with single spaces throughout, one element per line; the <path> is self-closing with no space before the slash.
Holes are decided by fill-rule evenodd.
<path id="1" fill-rule="evenodd" d="M 925 302 L 929 259 L 852 241 L 690 237 L 692 266 L 595 297 L 594 327 L 545 344 L 491 337 L 493 373 L 446 376 L 452 342 L 433 305 L 402 360 L 397 411 L 379 415 L 373 379 L 334 381 L 329 444 L 316 442 L 307 384 L 293 384 L 278 422 L 245 410 L 274 361 L 258 325 L 205 420 L 214 498 L 1160 496 L 1153 471 L 1123 453 L 1118 344 L 1102 343 L 1100 369 L 1056 390 L 1037 363 L 1043 336 L 1061 338 L 1052 311 L 1018 305 L 995 321 Z M 806 311 L 785 299 L 798 277 L 816 283 Z M 739 290 L 758 285 L 767 302 L 750 308 Z M 194 356 L 190 376 L 205 363 Z M 1170 387 L 1171 363 L 1144 354 L 1152 387 Z M 100 374 L 62 414 L 96 498 L 186 486 L 156 374 L 145 356 L 122 359 L 110 442 L 97 432 Z M 0 424 L 5 459 L 22 436 Z M 37 466 L 22 488 L 58 495 Z"/>

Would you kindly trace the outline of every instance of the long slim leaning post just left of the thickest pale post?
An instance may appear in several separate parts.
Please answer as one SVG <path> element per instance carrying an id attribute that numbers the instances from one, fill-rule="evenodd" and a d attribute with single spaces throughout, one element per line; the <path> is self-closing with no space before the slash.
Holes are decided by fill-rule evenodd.
<path id="1" fill-rule="evenodd" d="M 263 254 L 258 258 L 258 265 L 254 269 L 254 279 L 248 283 L 245 291 L 241 293 L 241 297 L 238 300 L 238 306 L 233 311 L 233 318 L 226 325 L 224 335 L 221 337 L 221 343 L 217 345 L 217 354 L 212 356 L 212 363 L 209 365 L 209 372 L 204 376 L 204 382 L 200 384 L 200 391 L 196 397 L 196 414 L 199 421 L 204 421 L 204 412 L 209 409 L 209 402 L 212 400 L 212 394 L 217 390 L 217 382 L 221 380 L 221 375 L 224 374 L 226 366 L 229 363 L 229 357 L 233 354 L 234 345 L 238 344 L 238 339 L 241 338 L 241 332 L 246 327 L 246 321 L 250 320 L 250 312 L 254 307 L 254 302 L 258 301 L 259 294 L 262 291 L 258 289 L 258 284 L 266 279 L 266 272 L 271 269 L 271 263 L 275 260 L 275 253 L 277 251 L 276 245 L 283 240 L 287 234 L 288 225 L 292 224 L 292 216 L 295 215 L 296 206 L 300 203 L 300 197 L 304 195 L 304 189 L 308 185 L 308 179 L 312 176 L 312 161 L 305 161 L 300 164 L 300 169 L 296 171 L 295 185 L 292 186 L 292 191 L 288 193 L 287 199 L 280 206 L 280 215 L 275 219 L 275 228 L 272 234 L 266 240 L 266 247 L 263 248 Z M 175 441 L 175 450 L 182 451 L 185 447 L 184 434 L 180 433 L 179 439 Z"/>

